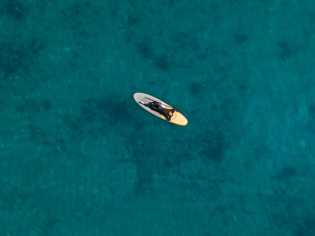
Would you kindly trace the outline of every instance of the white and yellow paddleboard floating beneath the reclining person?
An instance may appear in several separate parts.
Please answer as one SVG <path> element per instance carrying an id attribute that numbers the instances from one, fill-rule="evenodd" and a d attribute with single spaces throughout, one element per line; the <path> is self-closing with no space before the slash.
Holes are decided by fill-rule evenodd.
<path id="1" fill-rule="evenodd" d="M 162 115 L 159 112 L 156 112 L 154 110 L 151 110 L 149 107 L 144 106 L 143 104 L 139 103 L 141 101 L 148 103 L 149 99 L 151 99 L 151 100 L 160 102 L 162 107 L 164 107 L 166 109 L 173 109 L 173 107 L 170 106 L 169 104 L 167 104 L 166 102 L 160 100 L 159 98 L 153 97 L 149 94 L 142 93 L 142 92 L 136 92 L 135 94 L 133 94 L 133 98 L 146 111 L 150 112 L 153 115 L 156 115 L 157 117 L 160 117 L 161 119 L 163 119 L 165 121 L 168 121 L 164 115 Z M 171 121 L 169 121 L 169 122 L 176 124 L 176 125 L 179 125 L 179 126 L 186 126 L 188 123 L 186 117 L 181 112 L 178 112 L 178 111 L 174 112 L 174 114 L 171 118 Z"/>

